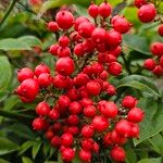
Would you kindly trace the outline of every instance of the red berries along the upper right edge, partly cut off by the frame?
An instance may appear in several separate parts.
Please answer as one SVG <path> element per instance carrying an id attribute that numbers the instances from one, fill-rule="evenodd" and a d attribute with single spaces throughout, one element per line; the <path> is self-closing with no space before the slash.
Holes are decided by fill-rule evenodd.
<path id="1" fill-rule="evenodd" d="M 138 10 L 138 17 L 142 23 L 150 23 L 156 16 L 156 9 L 153 3 L 147 2 L 147 0 L 135 0 L 135 5 Z M 162 22 L 161 18 L 159 18 Z M 163 36 L 163 24 L 158 28 L 158 34 Z M 153 59 L 147 59 L 143 67 L 151 71 L 154 75 L 163 75 L 163 43 L 153 42 L 150 47 L 150 52 L 153 54 Z"/>

